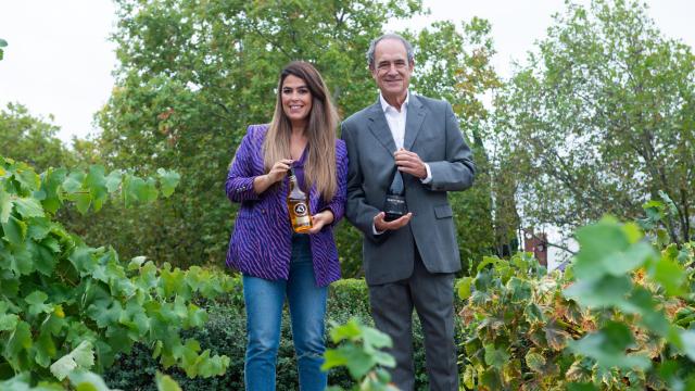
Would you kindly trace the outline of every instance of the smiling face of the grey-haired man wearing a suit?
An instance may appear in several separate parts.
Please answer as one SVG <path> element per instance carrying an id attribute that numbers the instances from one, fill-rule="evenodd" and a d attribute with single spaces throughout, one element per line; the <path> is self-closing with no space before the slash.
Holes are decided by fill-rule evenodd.
<path id="1" fill-rule="evenodd" d="M 413 63 L 408 63 L 405 46 L 397 39 L 383 39 L 374 51 L 371 76 L 386 99 L 405 99 Z"/>

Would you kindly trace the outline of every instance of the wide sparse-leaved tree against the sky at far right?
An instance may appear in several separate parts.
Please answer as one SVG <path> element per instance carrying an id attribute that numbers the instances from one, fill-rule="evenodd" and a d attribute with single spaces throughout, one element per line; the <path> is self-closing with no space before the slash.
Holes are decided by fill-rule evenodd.
<path id="1" fill-rule="evenodd" d="M 695 58 L 635 1 L 568 2 L 495 99 L 491 135 L 525 218 L 561 229 L 636 218 L 664 190 L 693 236 Z M 500 163 L 502 162 L 502 163 Z"/>

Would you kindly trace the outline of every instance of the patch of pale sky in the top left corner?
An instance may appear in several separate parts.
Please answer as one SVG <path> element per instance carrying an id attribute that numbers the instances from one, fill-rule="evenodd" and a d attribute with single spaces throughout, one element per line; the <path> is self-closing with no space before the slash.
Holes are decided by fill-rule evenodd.
<path id="1" fill-rule="evenodd" d="M 18 102 L 33 115 L 54 115 L 59 137 L 85 137 L 113 87 L 115 27 L 110 0 L 0 1 L 0 105 Z"/>

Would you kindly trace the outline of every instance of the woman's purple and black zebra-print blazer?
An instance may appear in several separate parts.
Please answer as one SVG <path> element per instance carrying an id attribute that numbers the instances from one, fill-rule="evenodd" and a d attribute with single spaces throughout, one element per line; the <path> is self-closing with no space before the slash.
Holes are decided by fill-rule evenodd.
<path id="1" fill-rule="evenodd" d="M 277 189 L 261 194 L 253 190 L 253 178 L 264 175 L 263 140 L 268 125 L 251 125 L 241 140 L 231 168 L 227 175 L 227 197 L 240 202 L 233 232 L 229 239 L 227 266 L 268 280 L 288 279 L 292 228 L 288 217 L 286 178 Z M 346 198 L 348 152 L 345 143 L 336 140 L 338 191 L 326 202 L 313 187 L 309 190 L 309 209 L 313 213 L 330 209 L 333 223 L 318 234 L 311 235 L 312 256 L 316 285 L 328 286 L 340 278 L 338 249 L 333 239 L 333 226 L 343 217 Z"/>

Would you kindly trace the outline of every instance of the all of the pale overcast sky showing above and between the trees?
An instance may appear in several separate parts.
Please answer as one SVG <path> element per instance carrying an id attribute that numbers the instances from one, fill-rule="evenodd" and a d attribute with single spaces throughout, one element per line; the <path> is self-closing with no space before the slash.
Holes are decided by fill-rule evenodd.
<path id="1" fill-rule="evenodd" d="M 695 28 L 688 24 L 695 1 L 647 3 L 667 37 L 695 47 Z M 511 61 L 525 60 L 533 42 L 544 37 L 552 15 L 564 9 L 563 0 L 425 0 L 424 4 L 430 15 L 387 27 L 419 29 L 441 20 L 486 18 L 497 50 L 493 65 L 503 77 L 510 75 Z M 115 45 L 109 41 L 115 23 L 111 0 L 2 1 L 0 38 L 9 46 L 0 61 L 0 106 L 18 102 L 33 115 L 52 115 L 66 142 L 98 131 L 93 114 L 111 94 L 117 64 Z"/>

